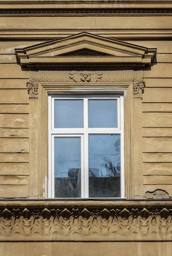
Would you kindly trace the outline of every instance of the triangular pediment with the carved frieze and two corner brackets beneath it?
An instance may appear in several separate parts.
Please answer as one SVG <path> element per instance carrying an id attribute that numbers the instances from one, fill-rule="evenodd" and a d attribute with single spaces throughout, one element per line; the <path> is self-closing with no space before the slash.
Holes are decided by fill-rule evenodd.
<path id="1" fill-rule="evenodd" d="M 41 82 L 134 82 L 137 84 L 133 84 L 133 95 L 141 97 L 144 88 L 141 69 L 150 66 L 156 49 L 81 32 L 15 52 L 21 66 L 31 70 L 37 67 L 37 71 L 30 72 L 27 84 L 30 97 L 38 96 Z M 136 68 L 140 71 L 134 71 Z"/>

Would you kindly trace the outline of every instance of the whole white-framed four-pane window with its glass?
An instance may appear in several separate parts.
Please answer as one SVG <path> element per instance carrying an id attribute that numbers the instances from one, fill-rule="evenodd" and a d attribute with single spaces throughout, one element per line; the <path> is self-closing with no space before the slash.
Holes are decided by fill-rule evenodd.
<path id="1" fill-rule="evenodd" d="M 123 198 L 123 96 L 49 95 L 49 198 Z"/>

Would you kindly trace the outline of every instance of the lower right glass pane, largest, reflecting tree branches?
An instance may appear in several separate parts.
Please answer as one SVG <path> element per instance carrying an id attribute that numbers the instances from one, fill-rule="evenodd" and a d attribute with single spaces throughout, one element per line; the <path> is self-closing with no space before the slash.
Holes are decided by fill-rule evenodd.
<path id="1" fill-rule="evenodd" d="M 89 197 L 120 197 L 120 135 L 89 135 Z"/>

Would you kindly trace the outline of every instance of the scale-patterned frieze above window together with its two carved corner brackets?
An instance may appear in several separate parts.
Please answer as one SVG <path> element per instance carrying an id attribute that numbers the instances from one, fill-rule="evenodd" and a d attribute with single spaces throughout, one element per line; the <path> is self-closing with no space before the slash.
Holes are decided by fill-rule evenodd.
<path id="1" fill-rule="evenodd" d="M 133 82 L 133 97 L 142 98 L 144 91 L 143 72 L 133 70 L 119 71 L 60 71 L 38 70 L 30 71 L 27 82 L 29 98 L 38 98 L 40 82 L 76 82 L 76 83 L 101 83 L 101 82 Z"/>

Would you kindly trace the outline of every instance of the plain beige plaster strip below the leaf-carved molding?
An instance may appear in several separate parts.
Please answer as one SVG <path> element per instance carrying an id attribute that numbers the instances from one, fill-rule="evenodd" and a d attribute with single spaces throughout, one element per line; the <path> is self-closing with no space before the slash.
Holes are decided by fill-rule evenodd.
<path id="1" fill-rule="evenodd" d="M 11 254 L 12 252 L 12 254 Z M 2 242 L 0 256 L 171 256 L 172 242 Z"/>

